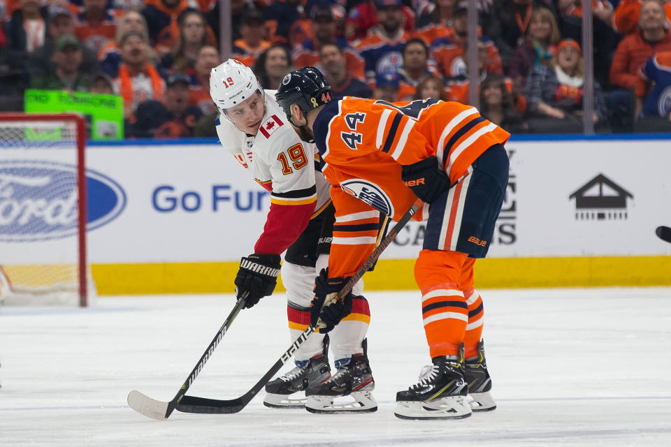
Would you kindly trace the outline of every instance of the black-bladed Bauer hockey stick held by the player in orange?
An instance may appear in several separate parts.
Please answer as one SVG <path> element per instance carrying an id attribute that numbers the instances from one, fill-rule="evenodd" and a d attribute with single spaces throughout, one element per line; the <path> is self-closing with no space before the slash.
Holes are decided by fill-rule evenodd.
<path id="1" fill-rule="evenodd" d="M 384 249 L 386 249 L 389 244 L 391 244 L 391 241 L 393 241 L 396 235 L 403 229 L 403 227 L 405 227 L 407 222 L 410 221 L 410 218 L 412 218 L 414 213 L 417 212 L 421 205 L 421 200 L 415 200 L 415 202 L 412 204 L 412 207 L 410 207 L 410 210 L 407 210 L 407 212 L 403 214 L 403 217 L 398 220 L 398 223 L 396 223 L 394 228 L 389 230 L 389 234 L 384 237 L 382 242 L 380 242 L 380 245 L 375 247 L 373 253 L 368 256 L 368 259 L 366 259 L 366 262 L 364 262 L 363 265 L 359 267 L 359 270 L 356 270 L 356 273 L 354 273 L 354 275 L 349 278 L 349 280 L 345 283 L 345 286 L 342 286 L 342 290 L 338 293 L 339 299 L 342 299 L 345 295 L 347 295 L 347 293 L 349 293 L 349 291 L 352 291 L 352 287 L 354 284 L 356 284 L 356 281 L 359 281 L 361 276 L 366 271 L 368 271 L 368 269 L 375 263 L 375 261 L 377 261 L 377 258 L 380 257 L 382 251 L 384 251 Z M 184 413 L 238 413 L 238 411 L 242 410 L 245 408 L 245 406 L 247 406 L 247 404 L 250 403 L 254 396 L 257 395 L 259 391 L 261 391 L 261 388 L 266 386 L 266 383 L 268 383 L 270 378 L 280 370 L 282 365 L 289 361 L 291 356 L 293 356 L 296 350 L 301 347 L 301 344 L 303 344 L 303 342 L 305 342 L 305 340 L 310 337 L 312 332 L 315 332 L 315 327 L 310 325 L 303 331 L 301 335 L 298 336 L 296 341 L 292 343 L 291 346 L 289 346 L 289 349 L 282 353 L 282 356 L 280 356 L 277 362 L 275 362 L 275 364 L 270 367 L 270 369 L 268 369 L 268 372 L 266 372 L 266 374 L 264 374 L 264 376 L 254 384 L 252 389 L 247 391 L 247 393 L 241 397 L 231 400 L 216 400 L 206 399 L 205 397 L 184 396 L 182 397 L 182 400 L 178 402 L 176 409 Z"/>

